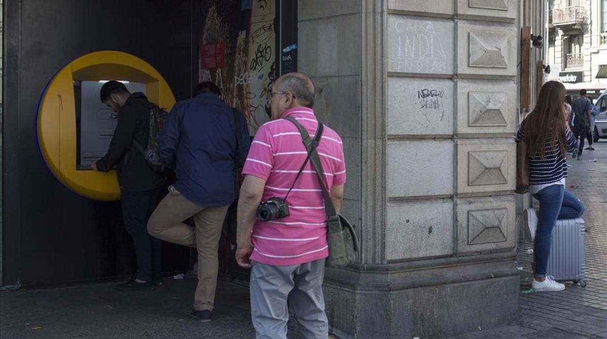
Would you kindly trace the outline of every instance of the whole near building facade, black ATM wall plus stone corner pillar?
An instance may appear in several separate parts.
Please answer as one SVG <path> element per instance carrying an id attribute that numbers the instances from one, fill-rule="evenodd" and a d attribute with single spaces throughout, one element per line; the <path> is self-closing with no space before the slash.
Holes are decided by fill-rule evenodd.
<path id="1" fill-rule="evenodd" d="M 152 64 L 177 100 L 198 80 L 219 83 L 251 132 L 266 119 L 277 74 L 312 78 L 319 120 L 344 142 L 342 213 L 361 240 L 356 264 L 325 275 L 333 332 L 445 337 L 518 321 L 520 31 L 542 32 L 544 2 L 152 2 L 145 11 L 115 0 L 6 4 L 2 190 L 16 197 L 2 202 L 2 287 L 132 272 L 117 202 L 62 187 L 32 128 L 56 70 L 111 49 Z M 57 21 L 64 12 L 78 20 Z M 175 24 L 141 24 L 159 21 Z M 534 49 L 532 65 L 542 56 Z M 168 270 L 187 267 L 172 253 Z"/>

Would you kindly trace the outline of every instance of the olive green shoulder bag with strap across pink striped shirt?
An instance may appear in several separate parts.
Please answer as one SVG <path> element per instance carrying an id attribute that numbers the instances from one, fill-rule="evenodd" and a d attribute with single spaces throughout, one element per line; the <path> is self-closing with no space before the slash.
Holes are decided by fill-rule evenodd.
<path id="1" fill-rule="evenodd" d="M 299 129 L 302 141 L 308 150 L 310 161 L 316 170 L 320 188 L 322 188 L 322 196 L 325 200 L 325 212 L 327 213 L 327 241 L 329 244 L 329 256 L 325 265 L 327 267 L 343 267 L 352 264 L 356 259 L 356 252 L 358 252 L 359 247 L 356 230 L 354 230 L 354 226 L 345 217 L 335 211 L 333 201 L 325 186 L 325 175 L 318 153 L 316 152 L 317 145 L 314 145 L 314 140 L 310 138 L 308 131 L 297 120 L 293 117 L 286 117 L 285 119 L 292 122 Z M 322 133 L 322 129 L 319 129 L 319 131 Z"/>

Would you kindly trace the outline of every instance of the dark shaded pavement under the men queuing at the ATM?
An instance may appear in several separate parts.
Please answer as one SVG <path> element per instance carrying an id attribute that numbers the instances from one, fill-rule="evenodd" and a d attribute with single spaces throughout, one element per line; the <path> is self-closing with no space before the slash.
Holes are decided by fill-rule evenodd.
<path id="1" fill-rule="evenodd" d="M 118 292 L 115 284 L 2 292 L 0 338 L 254 338 L 249 288 L 220 279 L 211 323 L 189 315 L 197 280 L 164 278 L 157 290 Z M 290 338 L 297 324 L 289 323 Z"/>

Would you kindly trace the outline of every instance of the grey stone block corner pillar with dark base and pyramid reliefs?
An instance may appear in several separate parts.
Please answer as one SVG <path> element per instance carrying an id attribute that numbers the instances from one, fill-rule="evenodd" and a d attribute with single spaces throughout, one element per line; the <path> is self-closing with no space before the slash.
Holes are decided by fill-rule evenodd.
<path id="1" fill-rule="evenodd" d="M 357 264 L 325 276 L 336 334 L 517 321 L 517 13 L 515 0 L 299 2 L 298 69 L 346 138 L 344 214 L 361 239 Z"/>

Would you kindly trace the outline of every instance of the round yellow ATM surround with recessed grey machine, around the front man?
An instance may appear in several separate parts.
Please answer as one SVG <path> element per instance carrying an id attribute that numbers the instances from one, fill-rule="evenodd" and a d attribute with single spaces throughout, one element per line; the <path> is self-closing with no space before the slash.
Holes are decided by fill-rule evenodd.
<path id="1" fill-rule="evenodd" d="M 117 115 L 100 100 L 107 80 L 123 81 L 131 92 L 170 110 L 175 97 L 164 78 L 146 61 L 104 50 L 64 66 L 47 84 L 38 106 L 38 145 L 50 171 L 73 192 L 93 200 L 120 199 L 116 171 L 92 171 L 106 154 Z"/>

